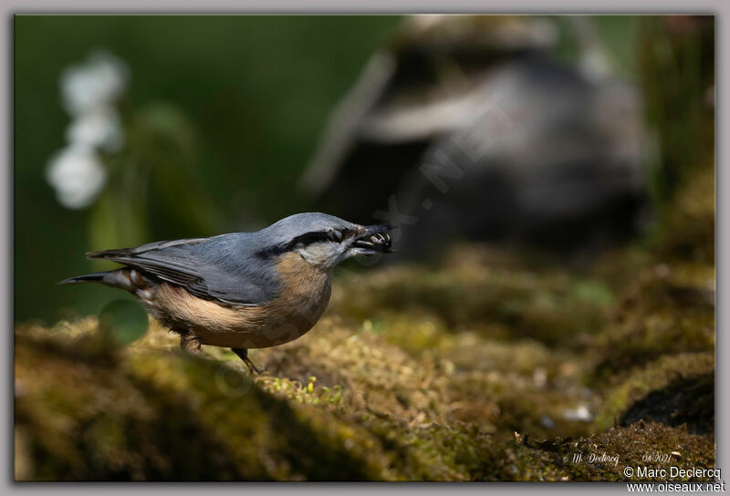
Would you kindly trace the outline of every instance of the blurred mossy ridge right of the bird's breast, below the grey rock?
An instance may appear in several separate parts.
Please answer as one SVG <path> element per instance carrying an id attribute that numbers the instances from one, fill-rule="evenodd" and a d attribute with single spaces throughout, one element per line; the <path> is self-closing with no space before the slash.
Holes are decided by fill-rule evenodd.
<path id="1" fill-rule="evenodd" d="M 612 301 L 610 288 L 597 281 L 555 270 L 481 263 L 392 267 L 344 280 L 331 306 L 358 321 L 428 315 L 454 332 L 477 329 L 495 339 L 529 337 L 549 345 L 576 345 L 576 336 L 600 328 Z"/>

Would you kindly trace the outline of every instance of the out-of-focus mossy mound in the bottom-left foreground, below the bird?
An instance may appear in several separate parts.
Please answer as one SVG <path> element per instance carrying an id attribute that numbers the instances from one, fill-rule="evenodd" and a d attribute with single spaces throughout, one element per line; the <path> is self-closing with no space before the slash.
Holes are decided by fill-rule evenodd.
<path id="1" fill-rule="evenodd" d="M 33 453 L 31 479 L 387 478 L 367 456 L 367 435 L 250 381 L 237 396 L 215 387 L 215 362 L 136 354 L 108 363 L 16 337 L 16 422 Z"/>

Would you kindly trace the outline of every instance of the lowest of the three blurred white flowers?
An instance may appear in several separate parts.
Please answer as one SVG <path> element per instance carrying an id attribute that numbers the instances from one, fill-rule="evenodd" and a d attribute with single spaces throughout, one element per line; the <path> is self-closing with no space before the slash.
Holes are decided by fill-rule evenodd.
<path id="1" fill-rule="evenodd" d="M 56 190 L 58 202 L 81 209 L 94 202 L 107 181 L 107 171 L 93 149 L 76 145 L 48 161 L 46 179 Z"/>

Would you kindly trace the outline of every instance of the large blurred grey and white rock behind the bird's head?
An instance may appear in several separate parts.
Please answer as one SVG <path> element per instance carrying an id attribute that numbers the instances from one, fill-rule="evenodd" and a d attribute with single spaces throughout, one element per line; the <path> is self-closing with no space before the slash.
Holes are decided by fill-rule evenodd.
<path id="1" fill-rule="evenodd" d="M 333 113 L 302 191 L 322 210 L 401 225 L 400 259 L 458 238 L 570 248 L 634 233 L 641 98 L 595 64 L 556 62 L 555 33 L 524 17 L 406 23 Z"/>

